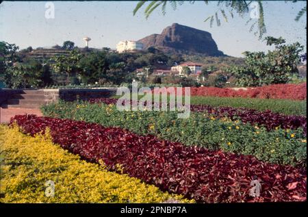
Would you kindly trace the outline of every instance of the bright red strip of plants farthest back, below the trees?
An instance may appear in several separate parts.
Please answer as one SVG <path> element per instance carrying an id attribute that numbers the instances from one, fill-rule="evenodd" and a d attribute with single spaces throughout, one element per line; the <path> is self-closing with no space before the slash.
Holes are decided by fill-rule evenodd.
<path id="1" fill-rule="evenodd" d="M 158 93 L 153 91 L 154 93 Z M 184 90 L 183 90 L 184 92 Z M 303 84 L 274 84 L 246 90 L 233 90 L 231 88 L 200 87 L 190 88 L 191 96 L 203 97 L 244 97 L 260 99 L 307 99 L 307 83 Z"/>

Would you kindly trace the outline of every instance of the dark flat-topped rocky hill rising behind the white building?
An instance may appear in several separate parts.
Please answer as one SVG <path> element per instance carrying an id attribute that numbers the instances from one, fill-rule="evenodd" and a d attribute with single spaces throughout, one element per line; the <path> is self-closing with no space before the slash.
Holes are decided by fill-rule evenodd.
<path id="1" fill-rule="evenodd" d="M 185 25 L 173 23 L 166 27 L 162 34 L 152 34 L 138 40 L 144 44 L 144 49 L 155 47 L 166 53 L 203 54 L 223 56 L 217 44 L 207 31 L 194 29 Z"/>

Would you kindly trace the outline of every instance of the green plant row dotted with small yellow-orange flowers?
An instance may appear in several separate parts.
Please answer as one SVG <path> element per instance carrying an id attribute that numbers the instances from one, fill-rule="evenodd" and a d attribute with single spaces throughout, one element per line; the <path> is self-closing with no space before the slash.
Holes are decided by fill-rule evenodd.
<path id="1" fill-rule="evenodd" d="M 217 119 L 200 112 L 192 112 L 189 118 L 180 119 L 177 112 L 120 112 L 116 105 L 86 102 L 51 104 L 44 107 L 43 114 L 99 123 L 105 127 L 122 127 L 141 135 L 153 134 L 186 145 L 254 155 L 279 164 L 301 164 L 307 157 L 302 128 L 268 131 L 265 127 L 242 124 L 229 118 Z"/>

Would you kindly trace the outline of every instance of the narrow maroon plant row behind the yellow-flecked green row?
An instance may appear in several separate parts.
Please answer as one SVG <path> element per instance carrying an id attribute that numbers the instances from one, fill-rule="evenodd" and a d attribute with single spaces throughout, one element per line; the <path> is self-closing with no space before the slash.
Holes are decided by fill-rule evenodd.
<path id="1" fill-rule="evenodd" d="M 105 103 L 107 105 L 116 104 L 116 99 L 99 98 L 89 99 L 90 103 Z M 241 120 L 243 123 L 264 125 L 266 129 L 297 129 L 303 127 L 304 133 L 307 133 L 307 117 L 305 116 L 287 116 L 284 114 L 273 113 L 270 110 L 259 112 L 245 108 L 234 107 L 212 107 L 210 105 L 190 105 L 192 112 L 207 112 L 216 118 L 228 117 L 231 120 Z"/>

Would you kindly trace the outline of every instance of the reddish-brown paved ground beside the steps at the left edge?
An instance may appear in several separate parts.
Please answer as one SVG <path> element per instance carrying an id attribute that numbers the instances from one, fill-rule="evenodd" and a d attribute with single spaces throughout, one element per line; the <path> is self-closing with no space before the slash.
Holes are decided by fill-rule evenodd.
<path id="1" fill-rule="evenodd" d="M 36 114 L 42 116 L 42 112 L 38 109 L 25 109 L 25 108 L 1 108 L 0 107 L 0 123 L 9 123 L 10 118 L 16 114 Z"/>

